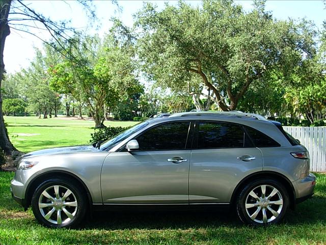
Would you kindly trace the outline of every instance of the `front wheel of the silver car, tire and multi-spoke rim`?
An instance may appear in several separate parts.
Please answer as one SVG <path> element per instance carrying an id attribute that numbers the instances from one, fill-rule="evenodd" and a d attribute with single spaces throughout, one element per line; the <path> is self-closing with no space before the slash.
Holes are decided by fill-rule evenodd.
<path id="1" fill-rule="evenodd" d="M 65 178 L 44 181 L 32 198 L 34 216 L 46 227 L 75 227 L 84 219 L 87 208 L 87 198 L 78 183 Z"/>

